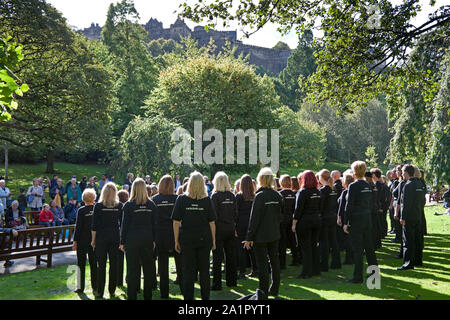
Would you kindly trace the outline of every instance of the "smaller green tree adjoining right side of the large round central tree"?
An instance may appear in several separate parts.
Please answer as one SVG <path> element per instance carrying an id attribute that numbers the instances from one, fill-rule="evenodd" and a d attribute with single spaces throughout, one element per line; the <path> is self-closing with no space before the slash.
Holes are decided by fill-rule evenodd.
<path id="1" fill-rule="evenodd" d="M 314 122 L 304 121 L 290 108 L 274 111 L 280 130 L 280 164 L 297 168 L 323 165 L 325 131 Z"/>

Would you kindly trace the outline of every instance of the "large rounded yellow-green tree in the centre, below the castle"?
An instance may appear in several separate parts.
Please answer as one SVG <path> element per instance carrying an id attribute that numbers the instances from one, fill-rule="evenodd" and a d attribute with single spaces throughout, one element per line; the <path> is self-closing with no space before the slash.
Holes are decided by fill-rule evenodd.
<path id="1" fill-rule="evenodd" d="M 272 111 L 280 103 L 271 79 L 235 58 L 234 50 L 213 52 L 214 46 L 189 44 L 182 55 L 169 55 L 168 67 L 146 101 L 146 116 L 163 115 L 191 134 L 195 120 L 202 121 L 203 130 L 218 129 L 223 136 L 226 129 L 273 128 Z M 223 166 L 208 168 L 214 173 Z"/>

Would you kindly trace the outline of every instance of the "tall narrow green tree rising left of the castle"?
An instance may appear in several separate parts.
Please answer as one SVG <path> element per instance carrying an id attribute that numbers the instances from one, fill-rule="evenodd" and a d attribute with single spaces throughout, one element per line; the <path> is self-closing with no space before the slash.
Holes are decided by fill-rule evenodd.
<path id="1" fill-rule="evenodd" d="M 158 69 L 150 56 L 147 33 L 139 25 L 132 0 L 109 6 L 102 41 L 111 56 L 117 105 L 112 114 L 113 134 L 120 137 L 135 115 L 143 115 L 145 98 L 156 86 Z"/>

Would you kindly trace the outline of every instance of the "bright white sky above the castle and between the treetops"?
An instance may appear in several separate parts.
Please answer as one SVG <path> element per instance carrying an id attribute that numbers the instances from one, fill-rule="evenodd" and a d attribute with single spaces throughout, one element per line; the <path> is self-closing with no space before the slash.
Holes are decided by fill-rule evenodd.
<path id="1" fill-rule="evenodd" d="M 191 0 L 189 2 L 193 2 Z M 414 20 L 414 25 L 420 25 L 427 20 L 429 13 L 447 3 L 448 0 L 437 0 L 435 6 L 429 5 L 429 0 L 421 0 L 424 5 L 422 12 Z M 118 0 L 47 0 L 58 9 L 67 19 L 67 23 L 79 29 L 87 28 L 92 22 L 103 26 L 106 21 L 106 13 L 111 3 L 117 3 Z M 139 12 L 140 23 L 145 24 L 150 18 L 156 18 L 163 23 L 164 28 L 169 28 L 170 24 L 176 20 L 176 11 L 183 0 L 134 0 L 136 10 Z M 195 1 L 194 1 L 195 2 Z M 401 0 L 392 0 L 392 2 L 400 3 Z M 185 20 L 189 28 L 193 29 L 195 23 Z M 231 28 L 227 30 L 237 30 L 239 40 L 246 44 L 252 44 L 261 47 L 273 47 L 278 41 L 283 41 L 289 45 L 291 49 L 297 46 L 297 35 L 295 32 L 290 32 L 286 36 L 281 36 L 277 32 L 277 26 L 269 24 L 264 26 L 261 30 L 251 35 L 250 38 L 245 38 L 243 33 L 239 31 L 239 26 L 235 22 L 230 23 Z M 222 28 L 217 27 L 217 30 Z"/>

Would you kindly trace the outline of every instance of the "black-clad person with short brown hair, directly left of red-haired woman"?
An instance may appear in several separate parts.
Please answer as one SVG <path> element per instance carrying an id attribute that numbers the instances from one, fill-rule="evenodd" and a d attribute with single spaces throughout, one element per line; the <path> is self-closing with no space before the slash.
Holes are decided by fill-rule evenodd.
<path id="1" fill-rule="evenodd" d="M 292 264 L 296 266 L 300 264 L 298 254 L 298 245 L 295 233 L 292 232 L 292 217 L 295 209 L 295 192 L 291 190 L 291 177 L 287 174 L 280 177 L 281 191 L 280 194 L 284 201 L 284 211 L 281 216 L 280 224 L 280 268 L 286 269 L 286 248 L 291 250 Z"/>

